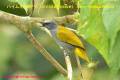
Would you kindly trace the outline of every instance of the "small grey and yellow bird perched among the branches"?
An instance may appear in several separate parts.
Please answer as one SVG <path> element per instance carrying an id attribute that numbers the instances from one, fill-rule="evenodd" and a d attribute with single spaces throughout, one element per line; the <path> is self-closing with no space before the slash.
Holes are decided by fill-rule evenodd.
<path id="1" fill-rule="evenodd" d="M 53 20 L 44 21 L 42 26 L 46 27 L 50 31 L 56 43 L 62 46 L 64 50 L 70 52 L 73 49 L 77 56 L 90 63 L 83 43 L 73 31 L 69 30 L 65 26 L 58 25 Z"/>

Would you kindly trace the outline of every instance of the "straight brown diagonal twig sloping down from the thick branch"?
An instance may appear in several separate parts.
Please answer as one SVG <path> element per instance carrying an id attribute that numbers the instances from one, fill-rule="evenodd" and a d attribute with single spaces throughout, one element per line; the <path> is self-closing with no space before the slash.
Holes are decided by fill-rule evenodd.
<path id="1" fill-rule="evenodd" d="M 56 69 L 61 72 L 64 76 L 67 76 L 67 71 L 42 47 L 42 45 L 35 39 L 32 33 L 25 32 L 26 37 L 31 41 L 31 43 L 41 52 L 41 54 L 56 67 Z"/>

